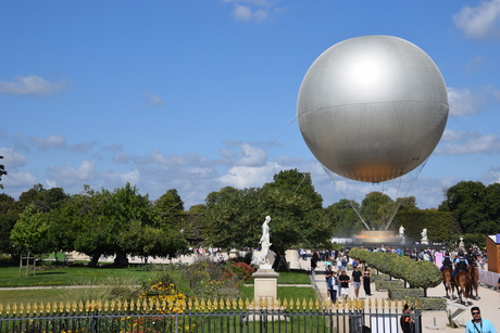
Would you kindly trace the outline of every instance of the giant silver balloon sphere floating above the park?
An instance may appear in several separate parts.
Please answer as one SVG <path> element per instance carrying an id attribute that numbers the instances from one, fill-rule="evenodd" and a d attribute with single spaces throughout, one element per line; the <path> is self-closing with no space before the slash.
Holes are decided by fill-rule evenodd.
<path id="1" fill-rule="evenodd" d="M 445 80 L 413 43 L 390 36 L 339 42 L 309 68 L 300 131 L 332 171 L 359 181 L 403 176 L 434 151 L 448 119 Z"/>

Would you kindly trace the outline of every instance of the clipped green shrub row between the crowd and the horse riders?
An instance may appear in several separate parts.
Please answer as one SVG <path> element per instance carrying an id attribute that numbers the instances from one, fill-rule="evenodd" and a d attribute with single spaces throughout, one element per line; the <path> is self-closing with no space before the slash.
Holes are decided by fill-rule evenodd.
<path id="1" fill-rule="evenodd" d="M 412 287 L 422 287 L 424 295 L 427 295 L 427 289 L 441 283 L 441 272 L 430 261 L 415 261 L 392 253 L 368 252 L 361 248 L 351 248 L 349 256 L 395 279 L 404 280 Z"/>

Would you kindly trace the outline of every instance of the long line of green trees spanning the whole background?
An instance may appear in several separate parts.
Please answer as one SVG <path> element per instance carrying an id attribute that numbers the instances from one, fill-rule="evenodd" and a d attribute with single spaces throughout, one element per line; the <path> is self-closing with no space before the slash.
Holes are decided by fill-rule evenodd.
<path id="1" fill-rule="evenodd" d="M 443 190 L 438 208 L 420 209 L 415 202 L 371 192 L 361 203 L 343 198 L 323 207 L 311 175 L 297 169 L 280 171 L 260 188 L 211 192 L 188 210 L 175 189 L 150 201 L 129 183 L 113 191 L 85 185 L 74 195 L 36 184 L 18 200 L 0 194 L 0 252 L 18 257 L 26 251 L 76 251 L 97 265 L 102 255 L 116 256 L 116 264 L 128 255 L 172 258 L 189 243 L 258 247 L 270 215 L 271 248 L 283 255 L 288 248 L 330 248 L 333 236 L 359 233 L 364 226 L 353 207 L 377 229 L 395 205 L 400 208 L 389 229 L 403 226 L 416 241 L 423 228 L 434 242 L 457 243 L 463 234 L 467 244 L 478 245 L 484 234 L 500 232 L 500 184 L 459 182 Z"/>

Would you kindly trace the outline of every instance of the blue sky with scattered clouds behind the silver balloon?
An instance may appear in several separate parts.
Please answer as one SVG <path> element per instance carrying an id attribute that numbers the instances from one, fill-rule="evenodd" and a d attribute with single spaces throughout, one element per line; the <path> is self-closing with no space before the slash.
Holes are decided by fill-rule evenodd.
<path id="1" fill-rule="evenodd" d="M 151 200 L 177 189 L 187 208 L 298 168 L 330 205 L 347 192 L 303 142 L 297 95 L 323 51 L 364 35 L 418 46 L 449 91 L 443 137 L 403 194 L 437 207 L 443 189 L 500 174 L 500 0 L 1 1 L 0 31 L 14 197 L 129 181 Z"/>

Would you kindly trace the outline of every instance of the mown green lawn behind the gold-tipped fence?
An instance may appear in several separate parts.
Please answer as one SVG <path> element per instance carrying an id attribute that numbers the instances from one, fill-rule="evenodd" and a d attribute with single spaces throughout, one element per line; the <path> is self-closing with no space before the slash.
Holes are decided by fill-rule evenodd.
<path id="1" fill-rule="evenodd" d="M 88 267 L 67 267 L 53 270 L 36 271 L 36 276 L 25 277 L 24 271 L 20 277 L 18 267 L 0 267 L 0 287 L 13 287 L 12 290 L 0 290 L 0 304 L 14 303 L 53 303 L 73 299 L 96 298 L 93 295 L 99 293 L 99 287 L 82 287 L 85 285 L 103 284 L 136 284 L 140 285 L 149 279 L 155 278 L 161 271 L 145 271 L 141 267 L 129 268 L 88 268 Z M 179 271 L 168 271 L 177 290 L 184 294 L 188 293 L 189 285 L 185 281 L 179 281 Z M 123 282 L 125 281 L 125 282 Z M 278 284 L 311 284 L 311 278 L 305 271 L 279 272 Z M 61 287 L 61 286 L 79 287 Z M 29 289 L 51 286 L 50 289 Z M 59 286 L 59 287 L 57 287 Z M 253 285 L 242 287 L 243 298 L 253 298 Z M 316 295 L 312 287 L 304 286 L 278 286 L 278 298 L 292 299 L 315 299 Z"/>

